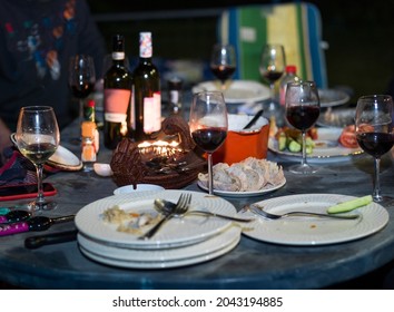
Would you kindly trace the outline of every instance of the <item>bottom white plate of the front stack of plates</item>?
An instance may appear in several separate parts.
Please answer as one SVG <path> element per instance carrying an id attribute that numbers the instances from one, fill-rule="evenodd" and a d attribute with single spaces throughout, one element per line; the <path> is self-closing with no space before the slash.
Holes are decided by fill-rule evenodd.
<path id="1" fill-rule="evenodd" d="M 111 266 L 119 266 L 119 267 L 126 267 L 126 269 L 169 269 L 169 267 L 179 267 L 179 266 L 197 264 L 197 263 L 206 262 L 206 261 L 213 260 L 215 257 L 218 257 L 220 255 L 224 255 L 224 254 L 230 252 L 232 250 L 234 250 L 238 245 L 239 240 L 240 240 L 240 235 L 238 235 L 226 247 L 217 250 L 217 251 L 209 253 L 209 254 L 189 257 L 189 259 L 166 261 L 166 262 L 145 262 L 145 261 L 139 262 L 139 261 L 130 261 L 130 260 L 126 260 L 126 261 L 125 260 L 116 260 L 116 259 L 110 259 L 110 257 L 95 254 L 95 253 L 90 252 L 89 250 L 86 250 L 82 246 L 80 246 L 80 251 L 87 257 L 89 257 L 93 261 L 97 261 L 99 263 L 111 265 Z"/>

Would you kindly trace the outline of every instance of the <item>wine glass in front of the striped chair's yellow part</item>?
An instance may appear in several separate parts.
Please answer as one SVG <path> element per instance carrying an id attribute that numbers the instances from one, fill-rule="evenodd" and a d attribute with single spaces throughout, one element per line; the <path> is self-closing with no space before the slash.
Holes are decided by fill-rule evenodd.
<path id="1" fill-rule="evenodd" d="M 286 68 L 285 48 L 282 45 L 264 46 L 260 59 L 260 75 L 269 82 L 268 110 L 275 110 L 275 82 L 282 77 Z"/>

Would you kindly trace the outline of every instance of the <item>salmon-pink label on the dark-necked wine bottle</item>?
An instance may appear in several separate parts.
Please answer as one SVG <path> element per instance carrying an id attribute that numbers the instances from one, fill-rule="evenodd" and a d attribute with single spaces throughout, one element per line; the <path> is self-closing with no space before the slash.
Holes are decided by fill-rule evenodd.
<path id="1" fill-rule="evenodd" d="M 131 90 L 105 89 L 105 118 L 107 121 L 122 123 L 126 120 L 127 108 L 130 104 Z"/>

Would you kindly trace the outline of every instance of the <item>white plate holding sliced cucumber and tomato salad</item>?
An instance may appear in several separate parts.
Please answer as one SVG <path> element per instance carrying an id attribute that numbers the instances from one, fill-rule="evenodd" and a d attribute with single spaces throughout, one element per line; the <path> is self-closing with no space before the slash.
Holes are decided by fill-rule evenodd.
<path id="1" fill-rule="evenodd" d="M 312 154 L 308 154 L 307 162 L 313 163 L 331 163 L 349 160 L 353 156 L 363 154 L 358 148 L 348 148 L 339 144 L 338 138 L 342 128 L 317 128 L 318 139 L 315 140 L 315 147 Z M 275 138 L 268 139 L 268 148 L 277 154 L 280 158 L 294 162 L 301 162 L 302 153 L 292 153 L 289 150 L 279 150 L 278 143 Z"/>

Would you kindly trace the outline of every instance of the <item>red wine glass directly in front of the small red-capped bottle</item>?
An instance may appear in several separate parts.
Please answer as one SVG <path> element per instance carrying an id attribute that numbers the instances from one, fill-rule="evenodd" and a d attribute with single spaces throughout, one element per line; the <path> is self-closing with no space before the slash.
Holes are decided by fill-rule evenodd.
<path id="1" fill-rule="evenodd" d="M 306 131 L 312 128 L 321 114 L 321 101 L 316 84 L 313 81 L 287 84 L 285 97 L 285 115 L 287 121 L 302 131 L 303 158 L 299 165 L 289 167 L 295 174 L 313 174 L 317 168 L 306 162 Z"/>

